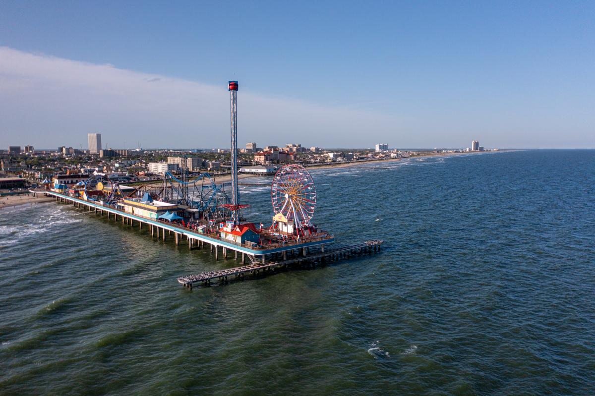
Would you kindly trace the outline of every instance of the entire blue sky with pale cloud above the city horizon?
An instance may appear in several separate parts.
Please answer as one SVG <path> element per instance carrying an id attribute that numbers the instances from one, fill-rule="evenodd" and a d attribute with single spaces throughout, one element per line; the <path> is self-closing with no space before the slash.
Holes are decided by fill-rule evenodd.
<path id="1" fill-rule="evenodd" d="M 219 3 L 0 2 L 0 148 L 595 147 L 593 1 Z"/>

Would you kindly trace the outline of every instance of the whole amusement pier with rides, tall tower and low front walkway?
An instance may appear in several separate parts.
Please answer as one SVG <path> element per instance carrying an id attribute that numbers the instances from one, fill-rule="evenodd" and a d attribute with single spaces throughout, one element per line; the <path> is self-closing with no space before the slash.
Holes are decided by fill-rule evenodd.
<path id="1" fill-rule="evenodd" d="M 217 184 L 212 174 L 203 173 L 190 180 L 188 161 L 180 158 L 179 174 L 165 172 L 163 183 L 139 187 L 124 186 L 105 175 L 58 174 L 42 182 L 43 189 L 31 193 L 55 197 L 89 212 L 113 215 L 123 224 L 149 228 L 152 237 L 173 237 L 176 245 L 186 238 L 189 249 L 202 249 L 205 243 L 219 259 L 234 253 L 242 266 L 198 275 L 182 276 L 178 282 L 192 288 L 195 282 L 211 284 L 213 279 L 244 278 L 294 266 L 315 266 L 354 254 L 380 250 L 381 241 L 366 241 L 325 249 L 334 236 L 312 222 L 316 207 L 316 188 L 309 172 L 301 165 L 284 165 L 271 183 L 274 215 L 270 227 L 246 221 L 240 203 L 237 180 L 237 81 L 228 82 L 231 123 L 231 183 Z M 226 186 L 231 187 L 228 194 Z M 312 251 L 311 251 L 312 250 Z M 249 265 L 246 265 L 246 258 Z M 270 262 L 267 262 L 270 259 Z"/>

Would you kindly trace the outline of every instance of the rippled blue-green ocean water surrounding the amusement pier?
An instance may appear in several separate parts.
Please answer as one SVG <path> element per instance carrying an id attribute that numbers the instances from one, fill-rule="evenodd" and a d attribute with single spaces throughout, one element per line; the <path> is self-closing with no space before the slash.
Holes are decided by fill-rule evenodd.
<path id="1" fill-rule="evenodd" d="M 236 263 L 64 204 L 2 209 L 0 394 L 595 394 L 595 150 L 312 176 L 315 223 L 380 254 L 189 291 Z"/>

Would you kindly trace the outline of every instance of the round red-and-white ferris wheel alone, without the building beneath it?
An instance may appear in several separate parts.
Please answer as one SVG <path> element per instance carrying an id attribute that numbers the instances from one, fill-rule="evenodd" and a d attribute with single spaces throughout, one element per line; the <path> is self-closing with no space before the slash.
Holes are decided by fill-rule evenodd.
<path id="1" fill-rule="evenodd" d="M 293 221 L 297 229 L 310 227 L 316 207 L 312 176 L 301 165 L 285 165 L 273 178 L 271 200 L 275 215 Z"/>

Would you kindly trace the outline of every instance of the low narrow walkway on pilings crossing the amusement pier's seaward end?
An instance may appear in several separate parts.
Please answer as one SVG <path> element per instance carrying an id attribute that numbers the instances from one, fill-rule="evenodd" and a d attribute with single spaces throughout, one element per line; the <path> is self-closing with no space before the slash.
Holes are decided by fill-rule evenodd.
<path id="1" fill-rule="evenodd" d="M 371 254 L 380 251 L 380 245 L 383 241 L 365 241 L 358 244 L 348 246 L 335 246 L 326 251 L 322 250 L 320 253 L 308 254 L 306 256 L 299 256 L 288 260 L 273 263 L 254 262 L 249 265 L 243 265 L 236 268 L 219 269 L 215 271 L 203 272 L 202 274 L 180 276 L 178 282 L 184 287 L 192 289 L 192 285 L 197 282 L 202 282 L 204 285 L 210 285 L 211 281 L 218 279 L 219 281 L 227 282 L 228 277 L 232 279 L 243 279 L 246 273 L 258 275 L 262 270 L 263 274 L 267 272 L 274 272 L 275 269 L 289 268 L 290 266 L 300 264 L 302 262 L 310 262 L 315 264 L 317 262 L 342 260 L 349 258 L 356 254 Z"/>

